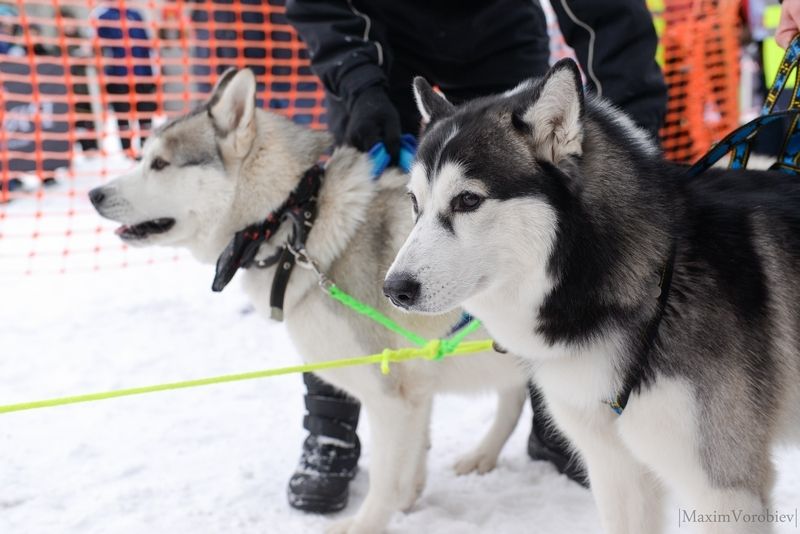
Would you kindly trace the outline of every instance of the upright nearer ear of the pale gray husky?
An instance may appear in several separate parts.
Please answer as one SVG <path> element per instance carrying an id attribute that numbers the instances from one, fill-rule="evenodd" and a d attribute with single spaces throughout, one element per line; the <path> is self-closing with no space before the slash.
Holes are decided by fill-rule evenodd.
<path id="1" fill-rule="evenodd" d="M 250 69 L 228 69 L 208 100 L 208 115 L 224 149 L 244 156 L 255 139 L 256 79 Z"/>

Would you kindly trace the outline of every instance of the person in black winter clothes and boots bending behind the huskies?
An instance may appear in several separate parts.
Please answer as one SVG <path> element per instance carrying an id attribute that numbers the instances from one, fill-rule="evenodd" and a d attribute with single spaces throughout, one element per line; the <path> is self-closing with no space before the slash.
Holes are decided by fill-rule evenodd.
<path id="1" fill-rule="evenodd" d="M 655 139 L 667 86 L 655 60 L 658 38 L 645 0 L 552 0 L 551 5 L 586 75 L 587 90 L 627 111 Z M 401 134 L 416 135 L 420 128 L 414 76 L 424 76 L 459 104 L 509 90 L 549 66 L 547 22 L 537 0 L 288 0 L 286 7 L 325 87 L 336 143 L 366 152 L 382 142 L 394 161 Z M 314 375 L 307 374 L 305 383 L 309 435 L 289 481 L 289 502 L 331 512 L 344 506 L 356 472 L 359 405 Z M 531 404 L 529 455 L 585 483 L 569 445 L 548 425 L 535 388 Z"/>

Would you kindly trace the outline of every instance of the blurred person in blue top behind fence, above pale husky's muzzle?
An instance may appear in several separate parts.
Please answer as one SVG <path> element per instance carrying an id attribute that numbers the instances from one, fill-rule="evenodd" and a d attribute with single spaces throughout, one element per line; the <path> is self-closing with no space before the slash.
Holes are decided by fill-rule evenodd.
<path id="1" fill-rule="evenodd" d="M 122 149 L 134 156 L 131 147 L 133 131 L 129 115 L 139 124 L 139 145 L 143 146 L 152 124 L 157 106 L 155 102 L 155 78 L 151 59 L 150 37 L 145 28 L 144 17 L 132 7 L 120 10 L 120 3 L 104 0 L 91 13 L 97 28 L 97 38 L 102 50 L 103 73 L 100 79 L 114 113 L 117 116 Z M 123 31 L 127 30 L 127 31 Z M 130 72 L 128 65 L 132 65 Z M 131 92 L 134 96 L 131 97 Z M 132 108 L 131 101 L 134 102 Z"/>

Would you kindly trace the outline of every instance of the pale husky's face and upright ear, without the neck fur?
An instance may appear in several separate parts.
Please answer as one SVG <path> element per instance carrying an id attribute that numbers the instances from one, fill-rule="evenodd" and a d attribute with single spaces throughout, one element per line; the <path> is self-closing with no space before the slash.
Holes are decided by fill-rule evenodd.
<path id="1" fill-rule="evenodd" d="M 103 217 L 122 224 L 131 245 L 179 245 L 230 202 L 235 162 L 255 135 L 252 72 L 227 71 L 208 102 L 147 140 L 128 174 L 89 192 Z M 238 156 L 238 157 L 237 157 Z"/>

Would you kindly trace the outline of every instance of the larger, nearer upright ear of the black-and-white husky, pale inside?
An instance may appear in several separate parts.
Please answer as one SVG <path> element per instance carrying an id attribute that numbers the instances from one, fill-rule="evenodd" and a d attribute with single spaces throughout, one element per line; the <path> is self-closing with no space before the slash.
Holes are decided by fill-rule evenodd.
<path id="1" fill-rule="evenodd" d="M 558 164 L 583 152 L 583 82 L 578 66 L 562 59 L 547 72 L 521 118 L 530 127 L 537 156 Z"/>

